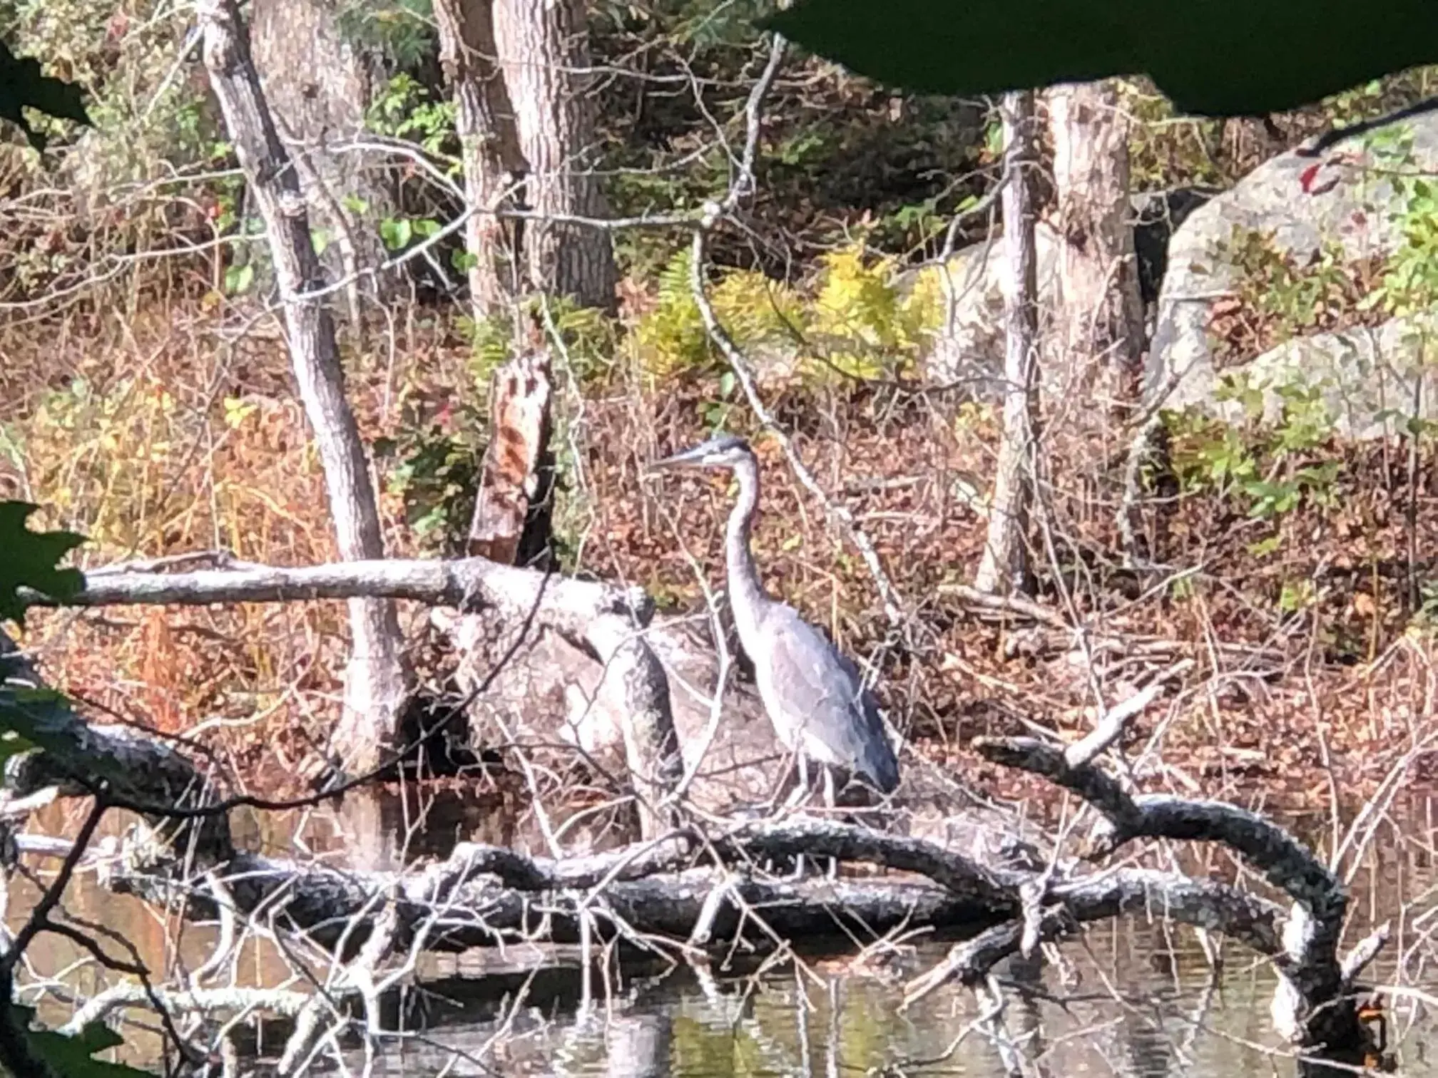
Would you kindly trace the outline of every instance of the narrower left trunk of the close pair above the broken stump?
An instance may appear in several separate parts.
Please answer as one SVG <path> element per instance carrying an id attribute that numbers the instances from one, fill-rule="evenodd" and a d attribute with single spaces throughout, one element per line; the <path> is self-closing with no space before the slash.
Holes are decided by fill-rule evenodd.
<path id="1" fill-rule="evenodd" d="M 493 214 L 509 206 L 523 174 L 519 132 L 496 66 L 493 0 L 436 0 L 440 62 L 454 95 L 454 126 L 464 164 L 464 198 L 475 214 L 464 229 L 475 318 L 500 309 L 518 287 L 515 230 Z"/>

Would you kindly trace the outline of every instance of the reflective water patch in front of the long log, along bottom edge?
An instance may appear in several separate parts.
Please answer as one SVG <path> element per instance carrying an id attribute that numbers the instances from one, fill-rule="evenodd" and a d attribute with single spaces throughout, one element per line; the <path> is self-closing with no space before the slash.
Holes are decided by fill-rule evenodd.
<path id="1" fill-rule="evenodd" d="M 1037 977 L 1015 982 L 1008 972 L 1004 1026 L 1025 1049 L 1027 1072 L 1228 1078 L 1273 1069 L 1273 1056 L 1255 1046 L 1268 1036 L 1268 976 L 1235 966 L 1215 985 L 1196 947 L 1156 969 L 1148 959 L 1165 944 L 1153 926 L 1113 926 L 1089 943 L 1064 967 L 1048 966 Z M 923 967 L 942 952 L 925 947 L 907 962 Z M 430 1075 L 446 1067 L 454 1075 L 572 1078 L 1008 1074 L 981 1031 L 953 1046 L 981 1018 L 972 993 L 940 990 L 906 1013 L 897 979 L 857 976 L 846 964 L 811 957 L 804 970 L 713 979 L 682 967 L 633 986 L 613 1008 L 512 1012 L 492 1000 L 495 1013 L 477 1021 L 462 985 L 431 986 L 449 996 L 454 1018 L 431 1028 L 429 1044 L 384 1054 L 377 1074 Z M 496 1041 L 506 1022 L 509 1038 Z M 469 1058 L 456 1059 L 456 1049 Z"/>

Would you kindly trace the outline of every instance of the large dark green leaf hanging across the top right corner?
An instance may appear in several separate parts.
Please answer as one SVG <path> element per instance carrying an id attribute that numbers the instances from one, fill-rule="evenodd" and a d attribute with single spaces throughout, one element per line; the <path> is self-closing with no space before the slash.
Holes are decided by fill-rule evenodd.
<path id="1" fill-rule="evenodd" d="M 1146 73 L 1209 116 L 1283 112 L 1438 60 L 1431 0 L 798 0 L 762 24 L 912 91 Z"/>

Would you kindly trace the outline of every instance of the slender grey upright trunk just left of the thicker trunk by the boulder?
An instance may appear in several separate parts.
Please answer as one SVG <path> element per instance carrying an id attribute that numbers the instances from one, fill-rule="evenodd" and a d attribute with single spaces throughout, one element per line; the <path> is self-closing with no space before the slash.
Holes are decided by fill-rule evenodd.
<path id="1" fill-rule="evenodd" d="M 1005 93 L 1004 119 L 1004 438 L 998 448 L 988 542 L 974 586 L 1028 592 L 1028 505 L 1038 398 L 1038 256 L 1034 244 L 1034 95 Z"/>

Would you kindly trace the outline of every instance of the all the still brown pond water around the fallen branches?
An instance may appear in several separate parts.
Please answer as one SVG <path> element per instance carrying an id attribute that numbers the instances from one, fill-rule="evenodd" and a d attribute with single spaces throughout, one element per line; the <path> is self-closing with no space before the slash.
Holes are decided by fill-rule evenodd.
<path id="1" fill-rule="evenodd" d="M 1349 943 L 1366 926 L 1393 921 L 1393 943 L 1372 970 L 1375 983 L 1398 986 L 1391 998 L 1389 1042 L 1405 1075 L 1438 1075 L 1438 924 L 1434 872 L 1435 802 L 1412 796 L 1378 828 L 1355 870 Z M 79 806 L 55 805 L 37 821 L 73 834 Z M 473 801 L 437 801 L 417 822 L 394 799 L 348 799 L 295 816 L 256 816 L 250 845 L 275 854 L 339 857 L 390 867 L 443 857 L 456 839 L 512 841 L 493 814 Z M 109 821 L 118 832 L 124 819 Z M 368 841 L 358 837 L 368 835 Z M 377 838 L 378 837 L 378 838 Z M 1310 841 L 1323 842 L 1319 825 Z M 1195 862 L 1194 870 L 1201 871 Z M 7 920 L 19 924 L 35 900 L 17 881 Z M 139 901 L 118 897 L 82 875 L 68 911 L 131 941 L 147 964 L 170 976 L 194 970 L 214 947 L 209 926 L 183 926 Z M 1005 967 L 1007 1008 L 998 1035 L 1024 1048 L 1022 1074 L 1228 1078 L 1290 1075 L 1294 1062 L 1268 1023 L 1273 975 L 1234 944 L 1221 949 L 1219 972 L 1192 931 L 1153 917 L 1091 927 L 1051 952 L 1040 970 Z M 738 1075 L 974 1075 L 1011 1074 L 982 1019 L 982 1000 L 951 986 L 900 1008 L 903 985 L 930 967 L 946 944 L 917 936 L 899 952 L 858 967 L 853 952 L 827 947 L 765 967 L 735 956 L 725 967 L 613 966 L 585 979 L 578 956 L 539 973 L 515 950 L 427 956 L 403 990 L 384 1000 L 387 1028 L 404 1036 L 365 1059 L 358 1042 L 316 1072 L 374 1075 L 620 1075 L 729 1078 Z M 121 977 L 98 969 L 66 940 L 32 952 L 32 983 L 63 985 L 42 998 L 40 1016 L 63 1022 L 75 995 Z M 483 973 L 483 977 L 476 977 Z M 585 996 L 588 982 L 588 996 Z M 221 983 L 295 986 L 290 963 L 263 941 L 239 950 Z M 301 985 L 302 987 L 302 985 Z M 26 1000 L 36 995 L 27 995 Z M 128 1045 L 116 1058 L 154 1065 L 152 1016 L 129 1012 Z M 273 1061 L 283 1023 L 266 1023 L 244 1049 Z M 1431 1062 L 1432 1061 L 1432 1062 Z"/>

